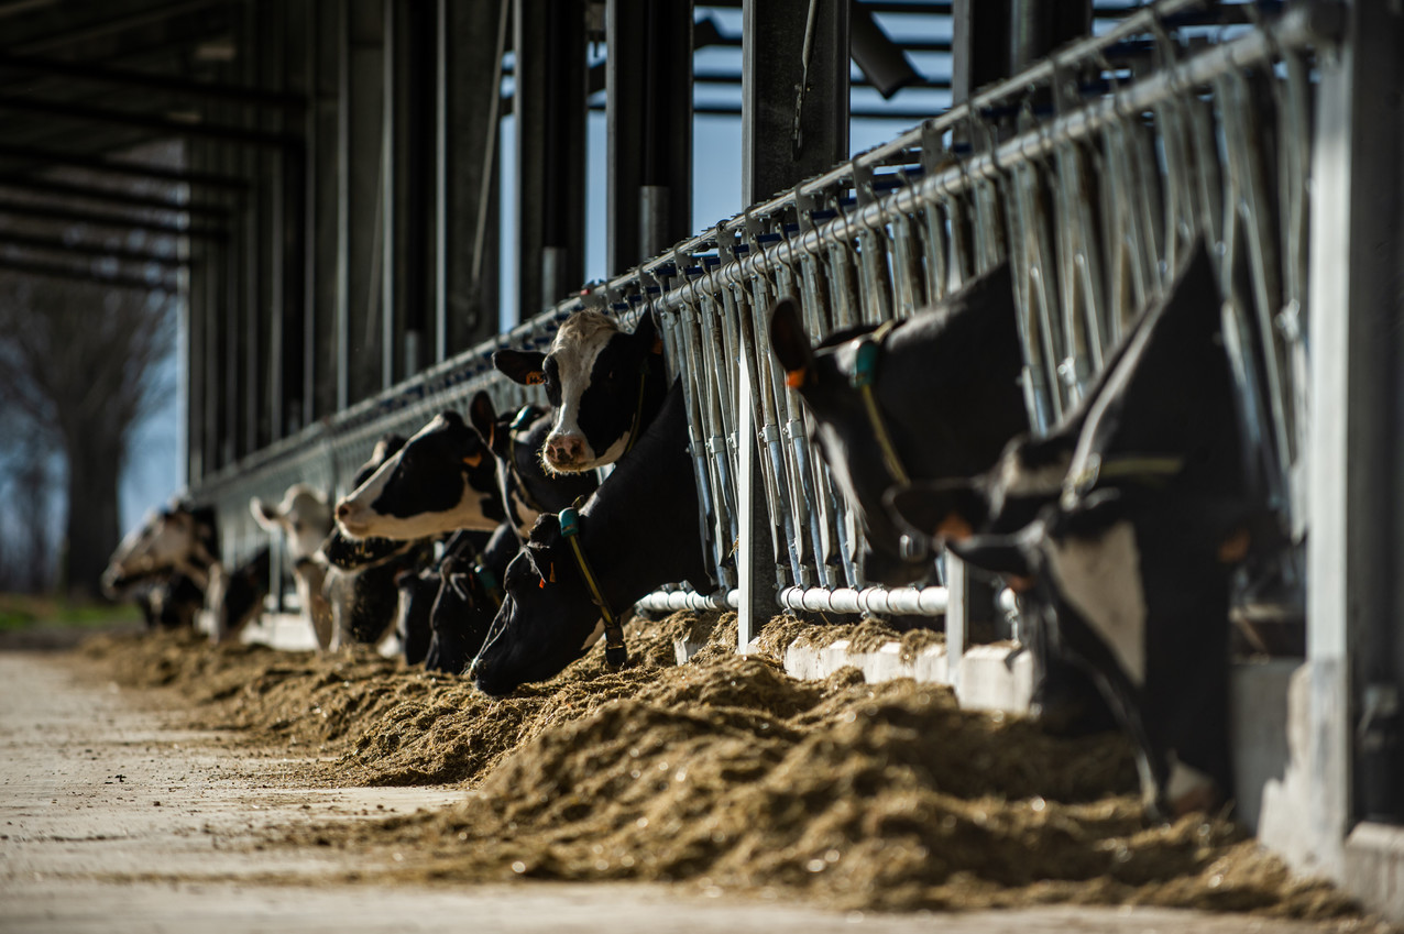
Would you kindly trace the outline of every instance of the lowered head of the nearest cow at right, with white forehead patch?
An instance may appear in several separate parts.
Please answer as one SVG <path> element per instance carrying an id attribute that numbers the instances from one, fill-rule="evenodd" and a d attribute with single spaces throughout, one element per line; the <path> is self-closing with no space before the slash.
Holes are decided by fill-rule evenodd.
<path id="1" fill-rule="evenodd" d="M 951 542 L 1005 574 L 1021 612 L 1088 669 L 1160 816 L 1231 791 L 1228 577 L 1252 521 L 1241 500 L 1108 489 L 1052 504 L 1014 534 Z"/>

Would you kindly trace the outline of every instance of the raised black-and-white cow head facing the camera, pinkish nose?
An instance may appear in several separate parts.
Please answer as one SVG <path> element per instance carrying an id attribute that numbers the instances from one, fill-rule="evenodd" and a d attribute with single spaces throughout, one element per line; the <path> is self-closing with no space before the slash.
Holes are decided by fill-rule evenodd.
<path id="1" fill-rule="evenodd" d="M 632 334 L 601 312 L 577 312 L 546 353 L 500 350 L 493 364 L 522 385 L 543 385 L 555 407 L 546 466 L 557 472 L 614 463 L 663 406 L 663 340 L 644 313 Z"/>

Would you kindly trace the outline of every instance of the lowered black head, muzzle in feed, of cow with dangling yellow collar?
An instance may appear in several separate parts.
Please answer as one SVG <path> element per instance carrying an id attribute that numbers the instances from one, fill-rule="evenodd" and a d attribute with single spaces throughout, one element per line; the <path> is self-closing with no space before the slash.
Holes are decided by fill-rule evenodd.
<path id="1" fill-rule="evenodd" d="M 595 572 L 608 590 L 608 572 L 598 566 Z M 559 674 L 601 632 L 600 610 L 560 535 L 560 520 L 543 513 L 531 539 L 507 565 L 503 607 L 473 662 L 473 680 L 486 694 L 511 694 L 519 684 Z"/>

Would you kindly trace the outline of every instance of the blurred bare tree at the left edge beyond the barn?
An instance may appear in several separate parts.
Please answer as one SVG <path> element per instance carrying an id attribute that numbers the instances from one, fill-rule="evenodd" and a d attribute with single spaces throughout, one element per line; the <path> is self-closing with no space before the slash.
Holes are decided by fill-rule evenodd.
<path id="1" fill-rule="evenodd" d="M 118 479 L 163 392 L 176 296 L 63 279 L 0 279 L 0 407 L 63 452 L 69 594 L 95 597 L 119 538 Z M 32 480 L 34 478 L 31 478 Z"/>

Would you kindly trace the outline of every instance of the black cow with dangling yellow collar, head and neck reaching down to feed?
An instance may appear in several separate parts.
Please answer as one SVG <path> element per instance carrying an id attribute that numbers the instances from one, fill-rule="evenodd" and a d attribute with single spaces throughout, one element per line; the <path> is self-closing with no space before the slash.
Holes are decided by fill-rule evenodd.
<path id="1" fill-rule="evenodd" d="M 706 587 L 696 511 L 687 414 L 674 383 L 657 419 L 578 511 L 577 541 L 614 612 L 665 583 Z M 503 588 L 503 608 L 473 663 L 473 678 L 487 694 L 557 674 L 602 631 L 559 515 L 543 513 L 536 521 L 507 566 Z"/>

